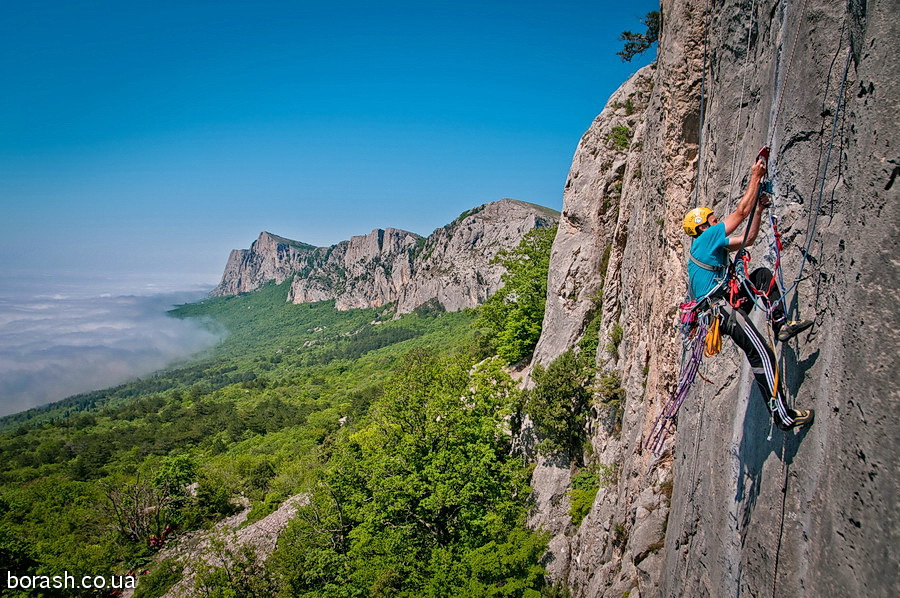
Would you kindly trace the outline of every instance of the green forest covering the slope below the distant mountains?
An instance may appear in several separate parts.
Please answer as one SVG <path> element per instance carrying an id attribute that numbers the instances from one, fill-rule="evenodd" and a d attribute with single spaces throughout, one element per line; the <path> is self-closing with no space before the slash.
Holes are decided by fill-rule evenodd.
<path id="1" fill-rule="evenodd" d="M 302 494 L 271 557 L 223 538 L 227 562 L 201 571 L 196 595 L 557 595 L 547 538 L 525 525 L 533 455 L 513 445 L 530 415 L 542 447 L 577 452 L 586 395 L 572 404 L 564 390 L 554 407 L 552 388 L 590 368 L 569 356 L 532 391 L 510 376 L 540 334 L 554 233 L 498 256 L 503 289 L 466 312 L 292 305 L 287 283 L 177 307 L 219 346 L 0 420 L 3 568 L 140 573 L 136 596 L 160 596 L 181 577 L 159 558 L 180 534 L 240 509 L 249 524 Z M 599 479 L 585 470 L 573 503 Z"/>

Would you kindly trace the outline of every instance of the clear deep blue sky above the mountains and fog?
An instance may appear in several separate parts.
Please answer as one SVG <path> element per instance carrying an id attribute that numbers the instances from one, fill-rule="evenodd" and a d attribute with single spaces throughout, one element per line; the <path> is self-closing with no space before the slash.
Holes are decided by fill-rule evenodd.
<path id="1" fill-rule="evenodd" d="M 654 2 L 6 3 L 0 275 L 214 284 L 263 230 L 554 208 Z"/>

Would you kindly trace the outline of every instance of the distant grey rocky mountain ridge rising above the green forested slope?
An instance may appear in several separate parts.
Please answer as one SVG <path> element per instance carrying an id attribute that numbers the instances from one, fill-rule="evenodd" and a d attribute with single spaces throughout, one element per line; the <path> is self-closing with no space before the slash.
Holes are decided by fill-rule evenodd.
<path id="1" fill-rule="evenodd" d="M 465 212 L 428 238 L 389 228 L 313 247 L 262 233 L 249 250 L 231 252 L 212 295 L 290 279 L 293 303 L 333 299 L 346 310 L 397 302 L 398 314 L 435 303 L 458 311 L 500 288 L 503 270 L 491 264 L 499 251 L 516 247 L 532 228 L 554 226 L 558 217 L 548 208 L 502 199 Z"/>

